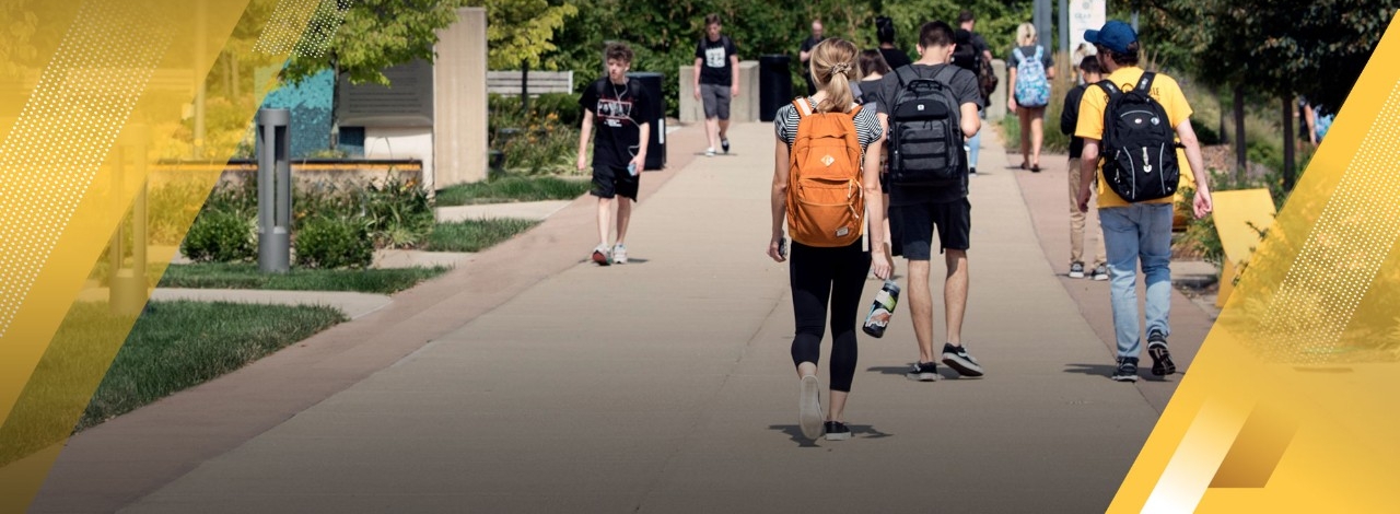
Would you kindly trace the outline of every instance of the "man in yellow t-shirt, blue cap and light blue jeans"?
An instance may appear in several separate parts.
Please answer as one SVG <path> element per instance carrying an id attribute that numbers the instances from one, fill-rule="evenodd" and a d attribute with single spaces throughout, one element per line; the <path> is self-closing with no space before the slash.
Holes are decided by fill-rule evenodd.
<path id="1" fill-rule="evenodd" d="M 1099 64 L 1109 73 L 1109 81 L 1123 91 L 1131 91 L 1142 78 L 1138 67 L 1141 48 L 1137 32 L 1121 21 L 1109 21 L 1098 31 L 1085 31 L 1084 39 L 1099 49 Z M 1186 102 L 1176 80 L 1156 74 L 1152 80 L 1152 99 L 1162 105 L 1168 122 L 1176 129 L 1176 137 L 1186 147 L 1186 161 L 1196 178 L 1196 217 L 1211 211 L 1211 190 L 1201 161 L 1201 147 L 1191 130 L 1191 106 Z M 1089 186 L 1102 169 L 1099 143 L 1103 139 L 1105 108 L 1107 92 L 1100 87 L 1089 87 L 1079 101 L 1079 122 L 1075 136 L 1084 139 L 1079 183 L 1079 210 L 1088 210 Z M 1170 335 L 1168 314 L 1172 307 L 1172 197 L 1128 203 L 1123 200 L 1107 181 L 1099 183 L 1099 225 L 1103 227 L 1103 244 L 1109 256 L 1109 279 L 1113 304 L 1113 331 L 1117 339 L 1117 368 L 1112 378 L 1121 382 L 1137 381 L 1137 363 L 1141 353 L 1137 304 L 1137 263 L 1142 262 L 1142 276 L 1147 283 L 1147 352 L 1152 357 L 1152 374 L 1158 377 L 1176 373 L 1176 364 L 1166 349 Z"/>

